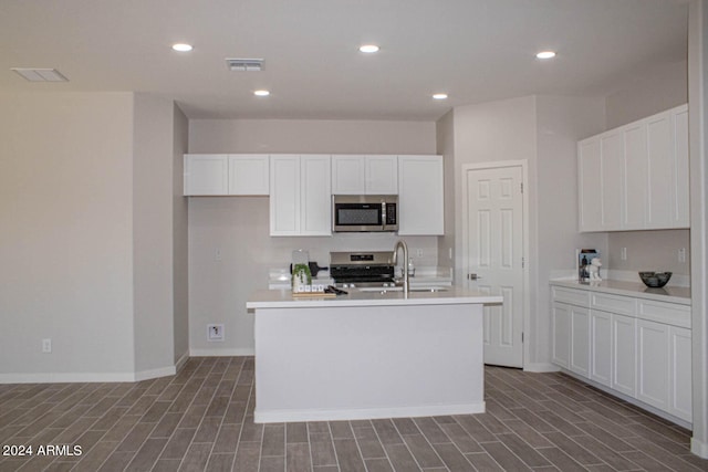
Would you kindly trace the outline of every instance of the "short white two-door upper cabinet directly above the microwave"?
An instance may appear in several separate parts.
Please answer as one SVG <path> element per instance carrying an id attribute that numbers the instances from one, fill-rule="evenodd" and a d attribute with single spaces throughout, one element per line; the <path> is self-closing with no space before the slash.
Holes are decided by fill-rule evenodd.
<path id="1" fill-rule="evenodd" d="M 332 195 L 396 193 L 396 156 L 332 156 Z"/>

